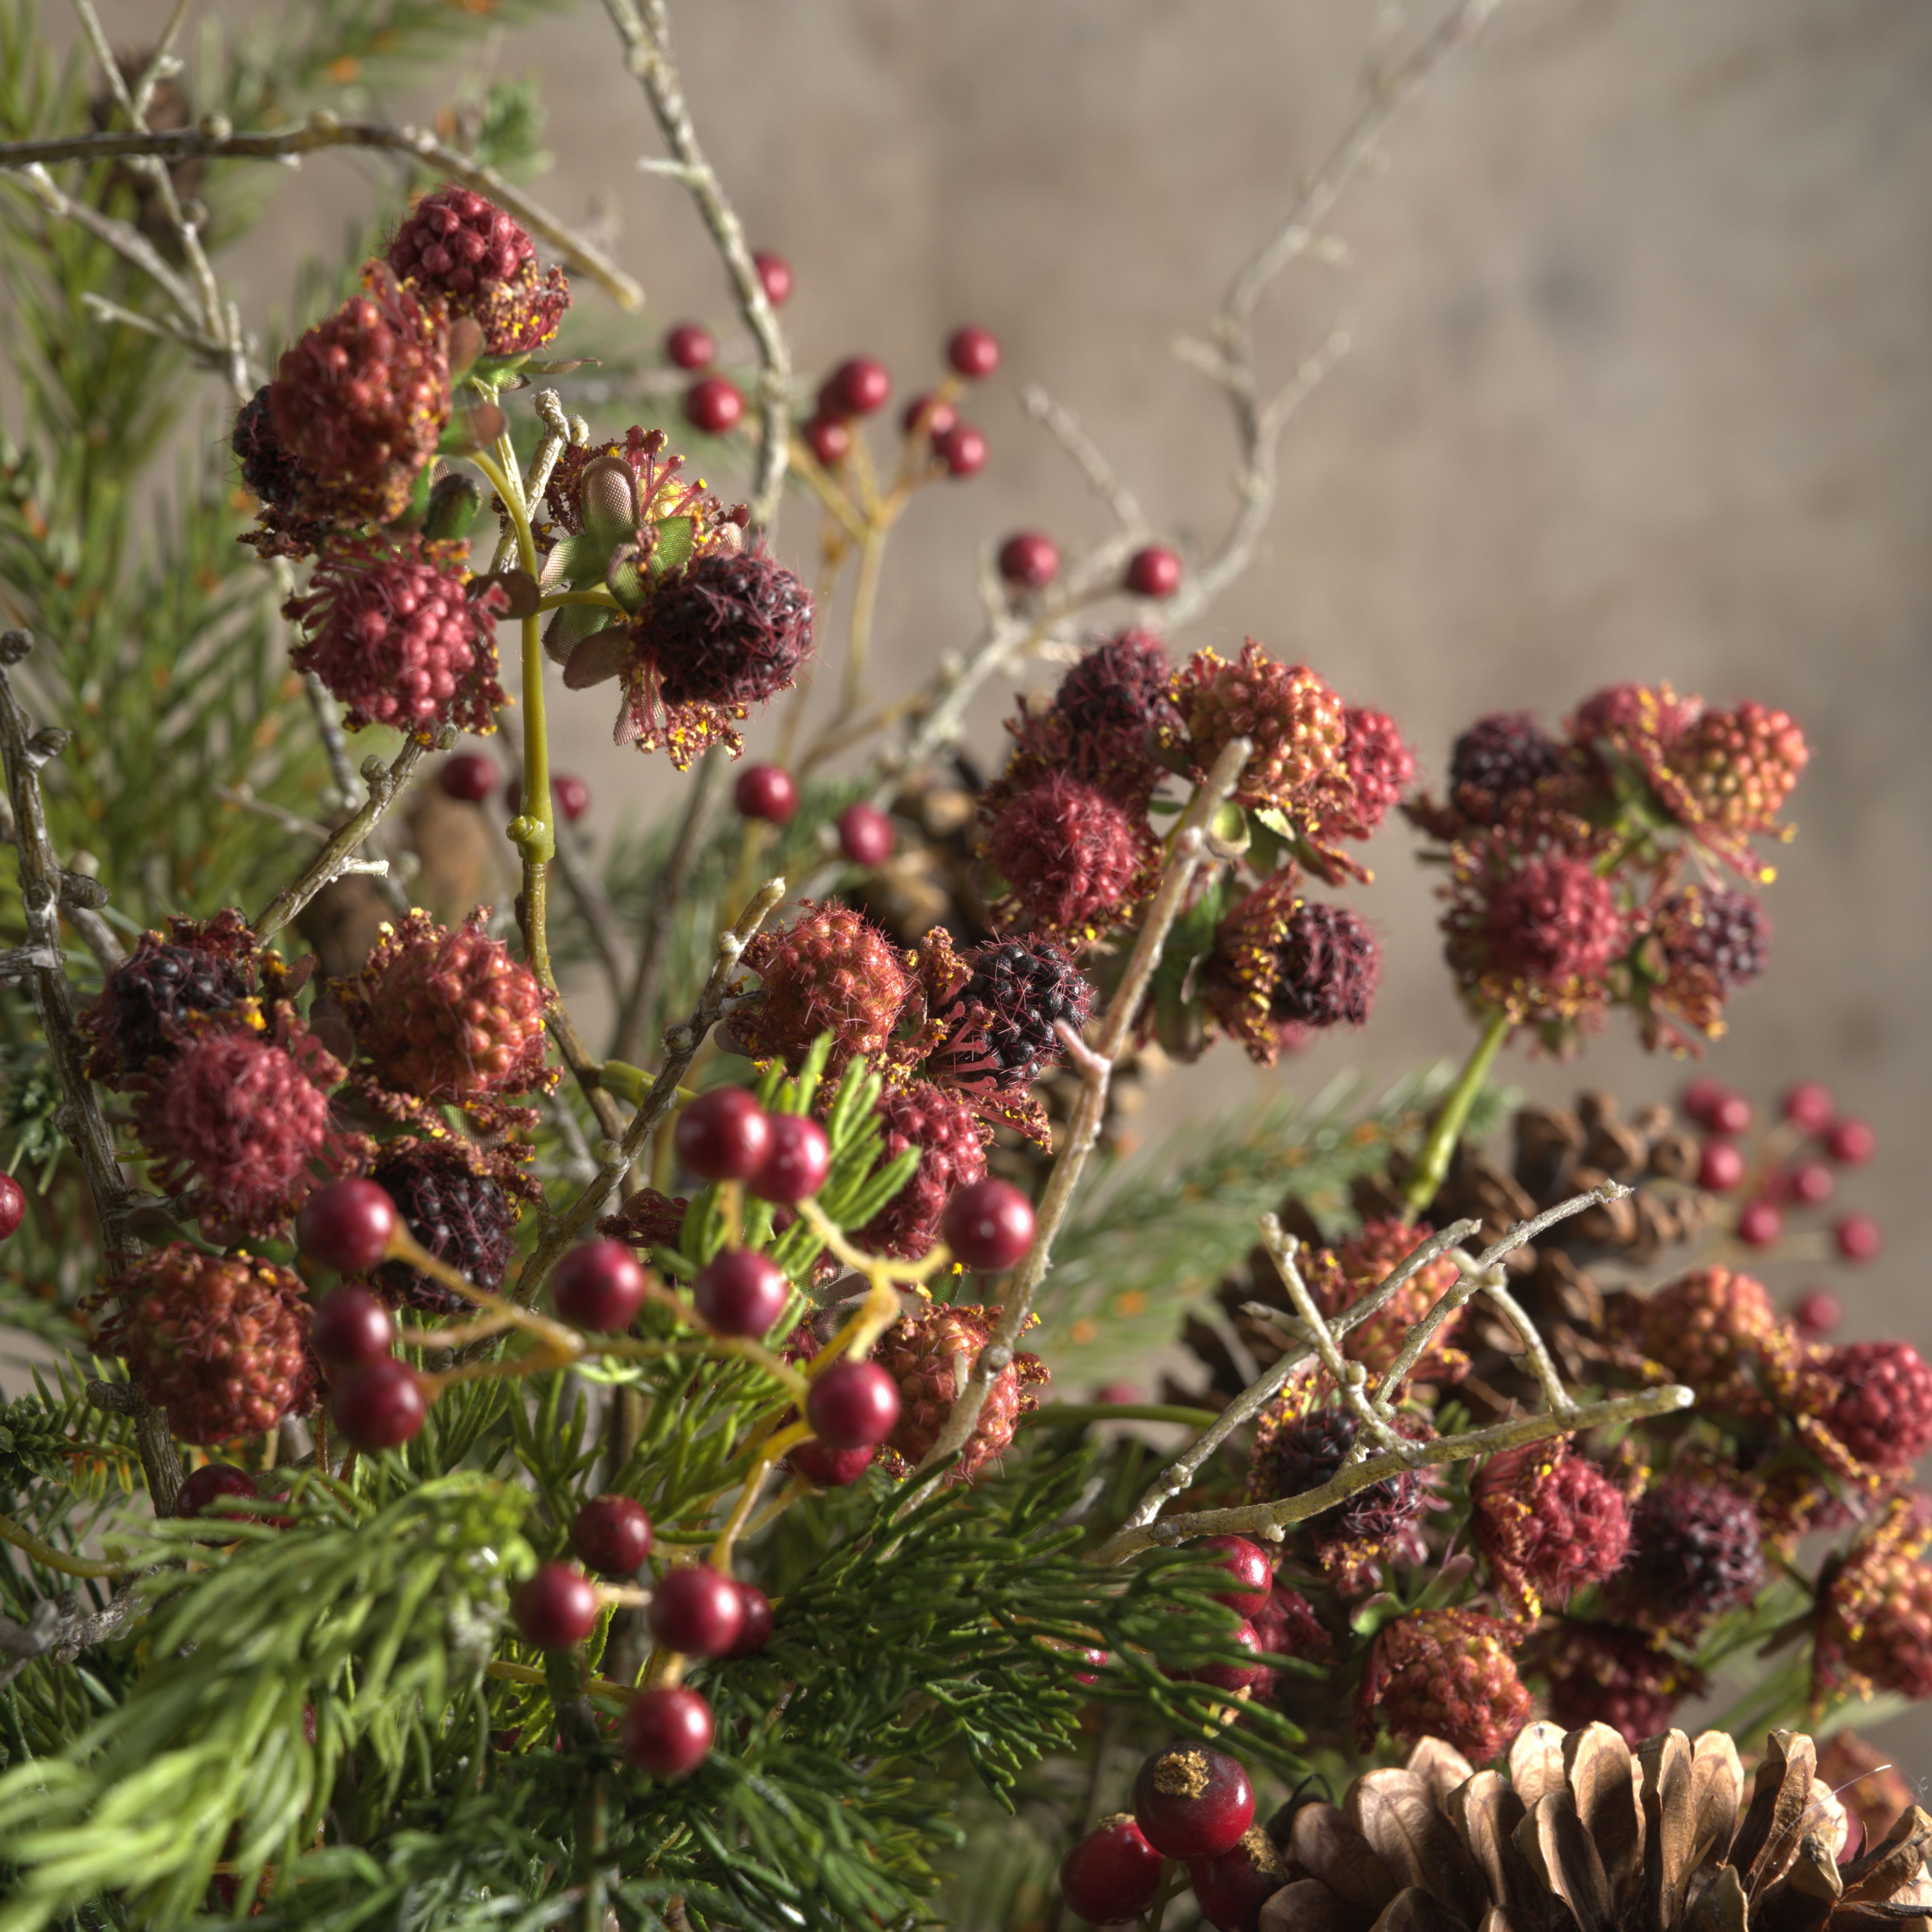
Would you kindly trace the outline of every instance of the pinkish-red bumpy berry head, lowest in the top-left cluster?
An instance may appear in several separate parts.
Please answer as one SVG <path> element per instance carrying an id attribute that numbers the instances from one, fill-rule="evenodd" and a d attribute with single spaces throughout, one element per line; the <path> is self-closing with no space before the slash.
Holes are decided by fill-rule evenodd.
<path id="1" fill-rule="evenodd" d="M 328 551 L 282 614 L 303 628 L 298 670 L 313 670 L 346 705 L 350 730 L 392 724 L 419 738 L 439 724 L 495 730 L 502 585 L 471 597 L 460 543 L 410 537 Z"/>

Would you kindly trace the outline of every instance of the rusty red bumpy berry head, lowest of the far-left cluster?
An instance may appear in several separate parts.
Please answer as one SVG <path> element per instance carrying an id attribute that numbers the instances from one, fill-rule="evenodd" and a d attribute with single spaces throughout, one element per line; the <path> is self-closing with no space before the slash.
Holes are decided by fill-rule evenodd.
<path id="1" fill-rule="evenodd" d="M 168 1242 L 108 1291 L 100 1345 L 189 1443 L 261 1435 L 315 1393 L 309 1304 L 286 1267 Z"/>

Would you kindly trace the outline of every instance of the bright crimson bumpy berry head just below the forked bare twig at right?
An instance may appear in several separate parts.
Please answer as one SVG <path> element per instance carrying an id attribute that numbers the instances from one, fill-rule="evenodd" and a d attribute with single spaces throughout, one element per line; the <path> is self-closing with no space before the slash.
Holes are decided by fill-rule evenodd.
<path id="1" fill-rule="evenodd" d="M 1490 1457 L 1470 1484 L 1476 1542 L 1520 1615 L 1534 1619 L 1613 1577 L 1631 1549 L 1623 1492 L 1567 1439 Z"/>

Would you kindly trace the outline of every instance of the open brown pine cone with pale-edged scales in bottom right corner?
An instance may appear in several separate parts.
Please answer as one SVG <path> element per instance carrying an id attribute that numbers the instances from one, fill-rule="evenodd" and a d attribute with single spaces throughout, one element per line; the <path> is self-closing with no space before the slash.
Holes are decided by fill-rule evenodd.
<path id="1" fill-rule="evenodd" d="M 1269 1833 L 1289 1884 L 1262 1932 L 1878 1932 L 1932 1920 L 1932 1816 L 1913 1806 L 1839 1864 L 1849 1824 L 1818 1750 L 1772 1735 L 1745 1804 L 1721 1731 L 1652 1737 L 1532 1723 L 1501 1770 L 1439 1739 L 1366 1772 L 1341 1806 Z"/>

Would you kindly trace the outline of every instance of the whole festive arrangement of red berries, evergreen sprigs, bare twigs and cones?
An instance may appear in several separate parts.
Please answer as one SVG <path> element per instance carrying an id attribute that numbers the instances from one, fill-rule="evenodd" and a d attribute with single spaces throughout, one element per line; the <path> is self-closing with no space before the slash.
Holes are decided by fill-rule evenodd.
<path id="1" fill-rule="evenodd" d="M 1161 541 L 1030 392 L 1117 529 L 989 547 L 985 636 L 893 703 L 887 539 L 987 462 L 1001 344 L 956 330 L 881 460 L 891 377 L 796 379 L 663 0 L 607 10 L 744 355 L 572 317 L 641 296 L 516 185 L 527 93 L 330 104 L 448 10 L 185 75 L 182 10 L 122 56 L 79 0 L 93 99 L 0 35 L 44 350 L 4 469 L 0 1320 L 54 1356 L 0 1410 L 0 1924 L 1932 1915 L 1932 1818 L 1849 1729 L 1932 1694 L 1932 1370 L 1748 1273 L 1876 1254 L 1803 1225 L 1870 1130 L 1816 1082 L 1756 1136 L 1712 1082 L 1492 1084 L 1613 1009 L 1721 1032 L 1801 728 L 1613 686 L 1474 721 L 1432 794 L 1318 670 L 1167 641 L 1329 359 L 1264 400 L 1260 290 L 1492 8 L 1378 75 L 1236 278 L 1223 543 Z M 394 205 L 257 367 L 211 249 L 253 166 L 336 145 Z M 155 564 L 56 429 L 189 369 L 226 444 Z M 1022 663 L 1063 674 L 983 777 L 964 709 Z M 553 705 L 612 699 L 682 796 L 599 856 Z M 1165 1063 L 1370 1018 L 1395 819 L 1461 1070 L 1128 1159 Z M 1138 1385 L 1057 1387 L 1103 1327 Z"/>

